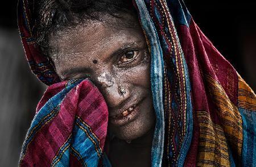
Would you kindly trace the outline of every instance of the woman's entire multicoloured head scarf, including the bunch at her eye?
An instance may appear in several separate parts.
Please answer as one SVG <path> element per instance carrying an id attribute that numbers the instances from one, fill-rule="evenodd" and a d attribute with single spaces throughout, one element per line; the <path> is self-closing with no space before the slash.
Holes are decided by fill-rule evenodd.
<path id="1" fill-rule="evenodd" d="M 133 2 L 151 53 L 151 89 L 156 113 L 151 152 L 152 166 L 254 166 L 256 95 L 253 90 L 197 27 L 183 1 L 134 0 Z M 85 86 L 84 82 L 88 83 L 89 87 L 93 87 L 92 83 L 86 80 L 75 81 L 70 85 L 71 87 L 63 85 L 73 81 L 57 83 L 60 80 L 51 63 L 35 47 L 34 37 L 31 34 L 31 27 L 35 24 L 31 18 L 32 6 L 31 0 L 19 1 L 19 30 L 28 62 L 32 72 L 42 82 L 47 85 L 56 83 L 57 87 L 62 84 L 59 89 L 52 89 L 55 93 L 49 93 L 51 95 L 47 95 L 42 101 L 52 103 L 51 99 L 54 98 L 58 100 L 56 104 L 62 106 L 65 102 L 70 103 L 71 99 L 66 100 L 66 98 L 73 96 L 77 101 L 72 103 L 84 102 L 81 97 L 85 98 L 87 93 L 76 90 L 82 87 L 87 89 L 88 85 Z M 52 86 L 49 86 L 48 90 L 51 90 Z M 59 95 L 56 94 L 59 91 L 63 93 L 61 97 L 56 96 Z M 92 92 L 98 92 L 96 87 L 93 87 Z M 80 93 L 85 95 L 81 96 Z M 100 93 L 98 95 L 100 96 Z M 104 103 L 100 98 L 90 104 L 97 101 Z M 62 140 L 59 140 L 58 135 L 52 133 L 49 128 L 51 124 L 56 127 L 55 131 L 64 133 L 62 128 L 54 125 L 55 118 L 49 120 L 47 118 L 44 122 L 40 122 L 40 118 L 46 118 L 43 116 L 49 112 L 47 103 L 44 106 L 39 103 L 38 108 L 41 109 L 31 124 L 32 130 L 36 131 L 32 135 L 31 128 L 28 131 L 20 158 L 21 166 L 29 163 L 40 165 L 40 162 L 44 162 L 42 157 L 46 158 L 45 165 L 48 166 L 56 164 L 72 166 L 72 162 L 80 166 L 97 166 L 98 163 L 110 165 L 101 152 L 104 149 L 106 127 L 92 128 L 90 124 L 100 125 L 107 122 L 105 103 L 102 110 L 97 111 L 103 112 L 106 116 L 97 120 L 97 117 L 92 115 L 90 118 L 93 119 L 89 122 L 86 114 L 76 116 L 82 113 L 80 111 L 91 112 L 86 106 L 87 103 L 81 103 L 80 108 L 65 110 L 64 114 L 72 112 L 73 115 L 70 117 L 75 116 L 74 124 L 81 120 L 88 126 L 90 133 L 82 131 L 80 126 L 72 127 L 71 124 L 66 124 L 63 119 L 58 123 L 65 124 L 70 130 L 67 135 L 62 135 Z M 45 114 L 44 111 L 48 112 Z M 43 114 L 39 115 L 40 112 Z M 45 128 L 43 134 L 51 135 L 40 138 L 42 127 L 38 128 L 38 125 L 42 124 Z M 76 135 L 80 131 L 84 135 L 82 138 Z M 98 131 L 102 133 L 96 134 Z M 72 136 L 70 141 L 69 135 Z M 39 139 L 36 140 L 35 137 Z M 89 144 L 87 143 L 88 147 L 85 147 L 86 141 L 90 141 Z M 98 151 L 99 143 L 101 151 Z M 35 151 L 34 148 L 38 146 L 40 150 Z M 47 155 L 50 149 L 51 155 Z M 90 157 L 90 155 L 96 156 Z"/>

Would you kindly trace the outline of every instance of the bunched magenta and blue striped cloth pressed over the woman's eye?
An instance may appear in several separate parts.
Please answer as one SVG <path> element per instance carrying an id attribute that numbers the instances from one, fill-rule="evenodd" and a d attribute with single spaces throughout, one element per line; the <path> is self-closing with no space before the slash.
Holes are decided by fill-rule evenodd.
<path id="1" fill-rule="evenodd" d="M 55 83 L 39 102 L 20 166 L 97 166 L 107 125 L 108 107 L 92 82 Z"/>

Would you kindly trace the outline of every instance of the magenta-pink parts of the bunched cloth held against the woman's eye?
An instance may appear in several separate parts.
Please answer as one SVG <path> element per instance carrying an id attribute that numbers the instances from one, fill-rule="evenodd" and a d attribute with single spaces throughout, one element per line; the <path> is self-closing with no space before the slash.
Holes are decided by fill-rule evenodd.
<path id="1" fill-rule="evenodd" d="M 42 112 L 40 109 L 45 107 L 51 97 L 65 89 L 66 83 L 55 83 L 48 87 L 39 102 L 37 114 Z M 28 144 L 26 155 L 20 161 L 20 166 L 50 166 L 61 146 L 72 135 L 77 117 L 91 128 L 100 140 L 100 147 L 103 150 L 108 126 L 108 107 L 97 87 L 92 82 L 84 80 L 65 95 L 56 116 L 44 123 L 35 133 Z M 70 158 L 71 164 L 76 166 L 79 160 L 72 155 Z"/>

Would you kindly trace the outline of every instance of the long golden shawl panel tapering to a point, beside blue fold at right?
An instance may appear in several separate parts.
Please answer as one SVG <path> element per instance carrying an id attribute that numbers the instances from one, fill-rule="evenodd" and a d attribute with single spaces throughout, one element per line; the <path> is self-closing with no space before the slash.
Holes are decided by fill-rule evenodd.
<path id="1" fill-rule="evenodd" d="M 241 160 L 243 130 L 242 118 L 222 86 L 209 75 L 205 76 L 208 89 L 212 95 L 213 103 L 216 105 L 218 118 L 224 128 L 225 136 L 232 147 L 233 153 L 237 155 L 238 161 Z"/>

